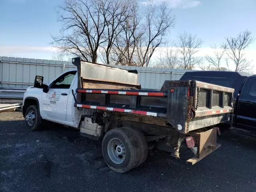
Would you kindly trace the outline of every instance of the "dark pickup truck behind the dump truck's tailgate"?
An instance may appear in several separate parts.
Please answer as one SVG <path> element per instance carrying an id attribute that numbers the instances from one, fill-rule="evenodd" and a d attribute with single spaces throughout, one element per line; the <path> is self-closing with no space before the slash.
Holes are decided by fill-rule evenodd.
<path id="1" fill-rule="evenodd" d="M 180 78 L 192 79 L 234 88 L 233 126 L 256 136 L 256 75 L 227 71 L 193 71 L 186 72 Z"/>

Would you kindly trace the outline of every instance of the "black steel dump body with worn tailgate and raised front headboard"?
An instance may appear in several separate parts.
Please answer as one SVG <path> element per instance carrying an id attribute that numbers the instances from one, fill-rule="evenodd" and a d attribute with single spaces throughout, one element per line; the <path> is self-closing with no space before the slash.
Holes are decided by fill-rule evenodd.
<path id="1" fill-rule="evenodd" d="M 172 127 L 183 134 L 228 121 L 233 110 L 232 88 L 186 80 L 165 81 L 160 90 L 141 90 L 134 72 L 100 66 L 106 74 L 99 79 L 101 73 L 93 75 L 98 65 L 80 60 L 73 64 L 80 79 L 76 107 L 127 116 L 130 121 L 134 117 L 134 121 Z"/>

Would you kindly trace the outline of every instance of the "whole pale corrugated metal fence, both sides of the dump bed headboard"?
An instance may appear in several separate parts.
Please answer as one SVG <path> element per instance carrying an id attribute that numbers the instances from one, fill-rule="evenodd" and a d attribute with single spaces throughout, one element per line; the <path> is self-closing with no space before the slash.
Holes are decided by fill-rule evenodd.
<path id="1" fill-rule="evenodd" d="M 139 83 L 144 89 L 160 89 L 165 80 L 179 80 L 188 70 L 158 69 L 150 67 L 115 66 L 137 70 Z M 76 69 L 72 62 L 0 56 L 0 88 L 26 88 L 33 85 L 36 75 L 44 76 L 50 83 L 56 76 Z"/>

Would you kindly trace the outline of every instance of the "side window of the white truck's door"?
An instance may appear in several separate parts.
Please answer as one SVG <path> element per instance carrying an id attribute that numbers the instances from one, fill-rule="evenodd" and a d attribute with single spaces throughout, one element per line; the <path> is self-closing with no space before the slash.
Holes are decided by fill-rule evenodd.
<path id="1" fill-rule="evenodd" d="M 69 89 L 75 77 L 75 74 L 76 74 L 76 71 L 70 71 L 63 74 L 53 82 L 51 88 Z"/>

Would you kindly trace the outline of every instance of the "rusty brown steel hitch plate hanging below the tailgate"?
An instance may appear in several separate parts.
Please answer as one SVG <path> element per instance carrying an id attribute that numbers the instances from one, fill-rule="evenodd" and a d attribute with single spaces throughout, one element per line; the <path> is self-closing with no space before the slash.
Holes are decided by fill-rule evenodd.
<path id="1" fill-rule="evenodd" d="M 210 130 L 197 130 L 196 132 L 190 133 L 190 136 L 194 138 L 195 147 L 197 147 L 196 155 L 187 160 L 188 163 L 194 165 L 198 161 L 202 160 L 208 154 L 214 152 L 221 145 L 216 143 L 217 139 L 217 128 Z"/>

